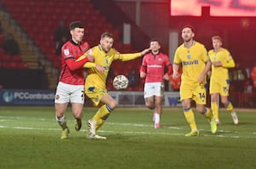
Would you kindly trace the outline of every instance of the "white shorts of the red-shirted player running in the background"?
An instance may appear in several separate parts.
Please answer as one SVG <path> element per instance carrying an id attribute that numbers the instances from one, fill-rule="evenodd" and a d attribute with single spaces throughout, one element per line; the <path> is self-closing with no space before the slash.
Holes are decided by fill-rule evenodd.
<path id="1" fill-rule="evenodd" d="M 164 85 L 161 82 L 146 82 L 144 86 L 144 98 L 151 96 L 163 96 Z"/>

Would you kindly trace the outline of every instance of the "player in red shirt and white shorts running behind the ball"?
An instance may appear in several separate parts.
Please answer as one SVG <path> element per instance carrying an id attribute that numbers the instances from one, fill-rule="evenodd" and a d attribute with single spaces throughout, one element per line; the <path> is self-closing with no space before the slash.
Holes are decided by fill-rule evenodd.
<path id="1" fill-rule="evenodd" d="M 145 104 L 148 109 L 154 110 L 154 128 L 157 129 L 160 127 L 164 80 L 169 80 L 169 76 L 172 74 L 172 64 L 166 54 L 160 53 L 160 42 L 158 40 L 151 40 L 150 48 L 151 53 L 146 54 L 143 58 L 140 76 L 146 78 L 144 85 Z"/>

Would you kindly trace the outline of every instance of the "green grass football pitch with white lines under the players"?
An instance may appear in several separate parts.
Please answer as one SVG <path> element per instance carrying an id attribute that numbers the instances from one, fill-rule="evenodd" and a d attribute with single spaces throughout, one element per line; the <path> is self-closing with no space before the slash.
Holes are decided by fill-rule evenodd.
<path id="1" fill-rule="evenodd" d="M 74 129 L 67 110 L 69 138 L 61 140 L 54 107 L 0 107 L 0 168 L 256 168 L 256 110 L 237 110 L 239 125 L 220 110 L 218 132 L 195 113 L 199 137 L 189 132 L 181 108 L 164 108 L 161 127 L 154 129 L 145 108 L 117 108 L 98 131 L 107 140 L 90 140 L 86 121 L 95 108 L 84 108 L 83 127 Z"/>

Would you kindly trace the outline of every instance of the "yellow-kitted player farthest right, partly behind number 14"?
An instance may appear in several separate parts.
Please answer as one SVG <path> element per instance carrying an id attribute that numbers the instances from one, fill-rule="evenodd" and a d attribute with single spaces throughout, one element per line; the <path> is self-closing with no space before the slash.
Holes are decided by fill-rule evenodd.
<path id="1" fill-rule="evenodd" d="M 208 52 L 212 61 L 212 71 L 210 78 L 211 107 L 214 119 L 219 124 L 218 119 L 218 95 L 224 107 L 230 111 L 234 124 L 238 124 L 238 118 L 233 105 L 228 99 L 230 89 L 229 68 L 235 67 L 235 61 L 226 48 L 222 48 L 223 39 L 219 36 L 212 37 L 213 49 Z"/>

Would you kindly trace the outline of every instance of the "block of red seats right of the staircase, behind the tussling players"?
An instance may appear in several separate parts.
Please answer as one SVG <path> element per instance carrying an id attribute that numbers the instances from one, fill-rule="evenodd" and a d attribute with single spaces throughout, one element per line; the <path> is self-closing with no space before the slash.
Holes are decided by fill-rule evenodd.
<path id="1" fill-rule="evenodd" d="M 119 31 L 113 29 L 113 25 L 93 8 L 89 0 L 2 0 L 2 4 L 46 55 L 55 54 L 54 30 L 60 20 L 64 20 L 67 26 L 73 20 L 83 21 L 85 31 L 88 32 L 84 39 L 90 43 L 90 46 L 98 44 L 103 31 L 113 33 L 116 45 L 119 41 Z M 70 8 L 76 8 L 76 10 L 73 11 Z M 60 67 L 60 62 L 52 61 L 55 67 Z"/>

